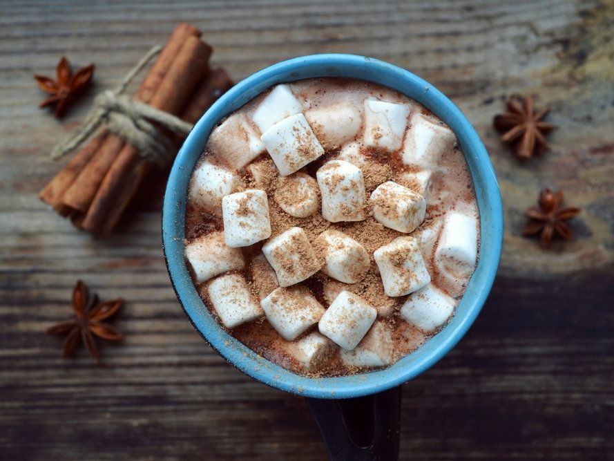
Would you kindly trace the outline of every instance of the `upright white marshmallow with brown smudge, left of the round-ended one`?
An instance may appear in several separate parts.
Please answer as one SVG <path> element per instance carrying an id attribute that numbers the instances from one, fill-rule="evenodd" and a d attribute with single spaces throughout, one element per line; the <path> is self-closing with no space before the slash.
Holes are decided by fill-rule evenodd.
<path id="1" fill-rule="evenodd" d="M 271 236 L 265 191 L 247 189 L 222 198 L 224 240 L 229 247 L 248 247 Z"/>

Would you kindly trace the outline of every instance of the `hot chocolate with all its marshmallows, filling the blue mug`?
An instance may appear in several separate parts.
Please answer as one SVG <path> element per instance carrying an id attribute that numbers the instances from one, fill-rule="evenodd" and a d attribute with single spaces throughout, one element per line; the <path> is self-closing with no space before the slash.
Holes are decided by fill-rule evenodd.
<path id="1" fill-rule="evenodd" d="M 271 88 L 220 121 L 192 173 L 186 260 L 205 305 L 296 373 L 419 348 L 453 316 L 478 250 L 454 133 L 369 82 Z"/>

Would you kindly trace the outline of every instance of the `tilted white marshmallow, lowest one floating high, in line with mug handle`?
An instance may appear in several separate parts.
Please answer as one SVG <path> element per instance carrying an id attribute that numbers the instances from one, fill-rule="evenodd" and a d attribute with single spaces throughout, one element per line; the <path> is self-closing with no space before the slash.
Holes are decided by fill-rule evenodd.
<path id="1" fill-rule="evenodd" d="M 318 329 L 345 350 L 352 350 L 371 328 L 377 311 L 361 297 L 340 292 L 318 323 Z"/>

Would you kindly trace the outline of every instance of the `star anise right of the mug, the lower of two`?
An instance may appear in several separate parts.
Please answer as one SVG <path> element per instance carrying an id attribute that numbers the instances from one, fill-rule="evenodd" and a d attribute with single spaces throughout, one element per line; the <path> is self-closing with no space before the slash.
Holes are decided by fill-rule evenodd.
<path id="1" fill-rule="evenodd" d="M 539 193 L 538 207 L 530 207 L 526 210 L 526 215 L 530 221 L 524 227 L 524 236 L 541 234 L 539 243 L 546 248 L 550 245 L 553 236 L 559 234 L 566 240 L 573 238 L 571 229 L 565 223 L 566 220 L 579 214 L 579 208 L 562 208 L 563 192 L 551 192 L 550 189 L 543 189 Z"/>

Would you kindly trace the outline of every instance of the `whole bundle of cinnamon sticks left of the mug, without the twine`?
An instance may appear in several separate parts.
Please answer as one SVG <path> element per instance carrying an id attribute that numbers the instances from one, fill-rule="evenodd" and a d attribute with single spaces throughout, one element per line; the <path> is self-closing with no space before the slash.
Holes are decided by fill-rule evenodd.
<path id="1" fill-rule="evenodd" d="M 134 98 L 194 123 L 232 81 L 211 69 L 212 49 L 201 32 L 180 23 Z M 102 129 L 52 178 L 39 198 L 77 227 L 97 235 L 113 231 L 144 178 L 154 167 L 131 144 Z"/>

